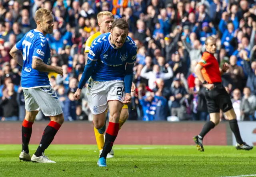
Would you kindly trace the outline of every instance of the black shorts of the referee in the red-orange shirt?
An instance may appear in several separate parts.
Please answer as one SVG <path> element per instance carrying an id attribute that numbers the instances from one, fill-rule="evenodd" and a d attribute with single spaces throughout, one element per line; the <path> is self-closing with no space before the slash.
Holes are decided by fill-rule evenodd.
<path id="1" fill-rule="evenodd" d="M 222 85 L 222 83 L 214 83 L 212 90 L 205 90 L 205 98 L 207 102 L 208 113 L 227 112 L 232 109 L 232 102 L 230 95 Z"/>

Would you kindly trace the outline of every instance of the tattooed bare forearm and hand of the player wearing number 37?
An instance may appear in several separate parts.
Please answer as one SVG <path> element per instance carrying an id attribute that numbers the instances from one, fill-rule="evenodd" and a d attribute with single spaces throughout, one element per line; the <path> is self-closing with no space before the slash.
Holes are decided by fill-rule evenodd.
<path id="1" fill-rule="evenodd" d="M 55 72 L 59 75 L 63 75 L 62 67 L 47 65 L 44 61 L 36 57 L 33 58 L 32 68 L 41 72 Z"/>

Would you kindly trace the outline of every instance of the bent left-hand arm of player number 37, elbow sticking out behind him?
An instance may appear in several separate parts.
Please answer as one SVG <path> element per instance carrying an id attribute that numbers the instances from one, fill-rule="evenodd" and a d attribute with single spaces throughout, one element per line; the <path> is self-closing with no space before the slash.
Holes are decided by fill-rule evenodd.
<path id="1" fill-rule="evenodd" d="M 23 55 L 22 55 L 22 41 L 24 37 L 20 41 L 14 45 L 10 51 L 10 55 L 12 58 L 20 65 L 23 66 Z"/>

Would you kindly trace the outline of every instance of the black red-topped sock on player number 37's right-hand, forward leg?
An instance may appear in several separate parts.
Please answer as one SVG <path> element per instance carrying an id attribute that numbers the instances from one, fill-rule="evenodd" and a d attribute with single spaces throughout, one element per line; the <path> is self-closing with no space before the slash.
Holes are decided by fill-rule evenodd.
<path id="1" fill-rule="evenodd" d="M 54 139 L 54 136 L 60 129 L 60 126 L 61 126 L 60 124 L 54 121 L 51 121 L 48 124 L 48 126 L 46 126 L 46 128 L 44 129 L 44 133 L 43 133 L 40 145 L 38 146 L 35 153 L 36 157 L 42 156 L 42 153 L 45 151 L 45 149 L 47 149 L 48 146 L 50 146 L 50 144 Z"/>

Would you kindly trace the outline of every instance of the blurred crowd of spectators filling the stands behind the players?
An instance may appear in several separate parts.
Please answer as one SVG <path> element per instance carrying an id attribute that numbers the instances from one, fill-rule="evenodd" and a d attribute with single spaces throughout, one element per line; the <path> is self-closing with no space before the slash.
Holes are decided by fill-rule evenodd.
<path id="1" fill-rule="evenodd" d="M 66 121 L 89 120 L 86 87 L 79 101 L 73 94 L 85 67 L 84 43 L 97 31 L 96 15 L 110 11 L 125 17 L 129 36 L 138 45 L 129 120 L 205 121 L 209 118 L 204 88 L 194 67 L 205 51 L 204 41 L 217 38 L 216 59 L 230 69 L 222 75 L 239 121 L 255 120 L 255 0 L 0 0 L 0 117 L 25 116 L 20 87 L 21 67 L 9 55 L 23 35 L 36 28 L 38 8 L 52 10 L 54 32 L 47 35 L 50 64 L 64 75 L 49 73 Z M 39 112 L 36 120 L 48 120 Z M 221 120 L 225 115 L 221 114 Z"/>

